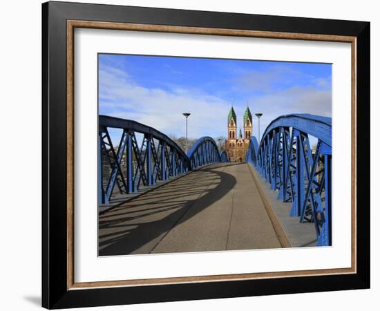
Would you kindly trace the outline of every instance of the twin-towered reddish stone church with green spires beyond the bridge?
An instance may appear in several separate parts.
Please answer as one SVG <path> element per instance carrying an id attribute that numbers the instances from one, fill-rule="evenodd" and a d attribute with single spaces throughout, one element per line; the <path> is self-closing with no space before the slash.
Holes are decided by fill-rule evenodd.
<path id="1" fill-rule="evenodd" d="M 251 135 L 254 135 L 252 115 L 248 106 L 243 115 L 243 126 L 244 137 L 242 135 L 241 128 L 238 137 L 236 113 L 234 111 L 234 107 L 231 106 L 227 117 L 228 132 L 227 140 L 225 142 L 225 151 L 227 152 L 228 158 L 231 162 L 245 161 L 245 153 L 247 152 L 249 146 L 249 138 L 251 138 Z"/>

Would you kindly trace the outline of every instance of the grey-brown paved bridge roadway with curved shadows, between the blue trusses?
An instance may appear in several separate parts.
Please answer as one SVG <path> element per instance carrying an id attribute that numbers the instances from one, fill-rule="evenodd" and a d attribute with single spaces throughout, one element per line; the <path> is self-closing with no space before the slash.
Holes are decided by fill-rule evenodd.
<path id="1" fill-rule="evenodd" d="M 99 216 L 99 255 L 281 247 L 249 164 L 212 164 Z"/>

